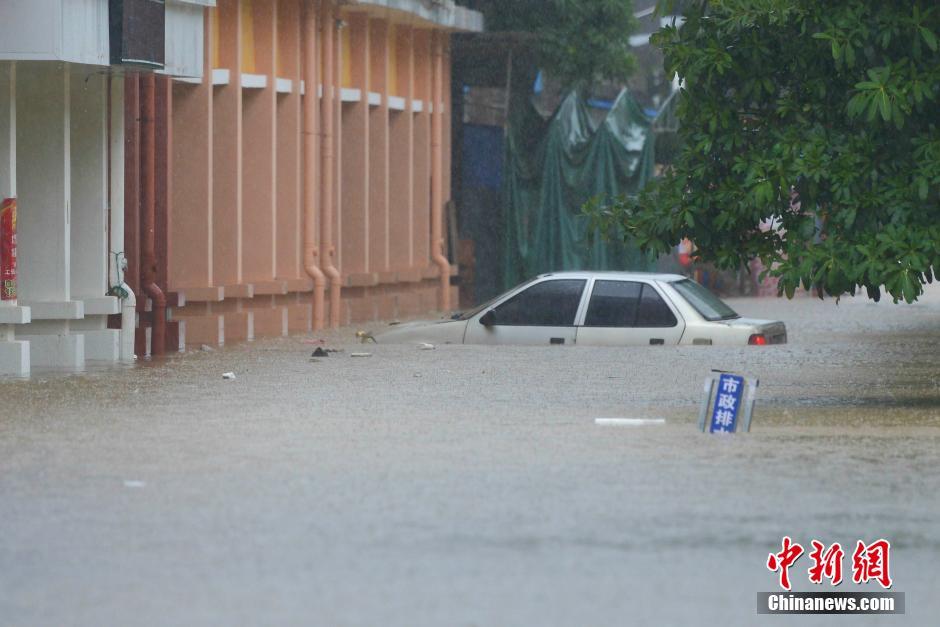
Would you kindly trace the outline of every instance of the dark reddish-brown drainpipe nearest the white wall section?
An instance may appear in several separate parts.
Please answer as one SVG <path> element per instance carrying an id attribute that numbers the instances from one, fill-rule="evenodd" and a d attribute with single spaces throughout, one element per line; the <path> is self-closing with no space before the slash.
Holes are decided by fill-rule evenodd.
<path id="1" fill-rule="evenodd" d="M 166 296 L 157 285 L 156 254 L 156 79 L 152 73 L 141 77 L 140 102 L 140 193 L 141 193 L 141 263 L 140 282 L 150 297 L 153 326 L 150 334 L 150 354 L 162 355 L 166 348 Z"/>

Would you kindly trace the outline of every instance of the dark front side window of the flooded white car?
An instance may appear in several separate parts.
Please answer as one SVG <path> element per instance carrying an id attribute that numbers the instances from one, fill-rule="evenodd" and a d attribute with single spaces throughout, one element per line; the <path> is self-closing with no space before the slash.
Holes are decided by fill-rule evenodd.
<path id="1" fill-rule="evenodd" d="M 578 313 L 584 279 L 536 283 L 493 310 L 497 325 L 570 327 Z"/>

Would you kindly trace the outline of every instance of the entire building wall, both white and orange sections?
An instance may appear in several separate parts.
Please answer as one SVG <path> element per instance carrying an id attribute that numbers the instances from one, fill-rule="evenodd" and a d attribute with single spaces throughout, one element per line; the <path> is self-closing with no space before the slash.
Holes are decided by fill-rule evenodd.
<path id="1" fill-rule="evenodd" d="M 303 29 L 318 0 L 168 0 L 167 66 L 152 83 L 150 118 L 140 101 L 148 75 L 108 65 L 107 5 L 0 2 L 0 195 L 16 197 L 19 212 L 19 300 L 0 303 L 0 374 L 130 358 L 130 334 L 119 327 L 135 317 L 133 350 L 143 356 L 164 311 L 160 348 L 169 350 L 310 329 L 319 301 L 308 270 L 326 259 L 340 288 L 327 299 L 338 305 L 327 306 L 335 309 L 328 324 L 437 307 L 430 112 L 444 116 L 446 199 L 449 105 L 431 102 L 430 51 L 466 12 L 447 2 L 433 10 L 419 0 L 330 2 L 339 88 L 324 93 L 321 80 L 304 81 L 305 70 L 325 69 L 322 31 Z M 306 121 L 305 98 L 316 111 Z M 324 204 L 325 106 L 335 107 L 336 168 Z M 155 263 L 147 268 L 141 129 L 150 126 Z M 166 309 L 141 289 L 151 272 Z M 136 312 L 133 298 L 109 295 L 122 281 Z"/>

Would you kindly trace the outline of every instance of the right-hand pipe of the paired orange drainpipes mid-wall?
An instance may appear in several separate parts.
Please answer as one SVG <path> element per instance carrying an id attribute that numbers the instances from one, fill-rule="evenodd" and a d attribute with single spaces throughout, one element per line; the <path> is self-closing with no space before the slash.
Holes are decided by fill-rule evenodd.
<path id="1" fill-rule="evenodd" d="M 323 260 L 323 272 L 330 279 L 330 326 L 339 327 L 340 310 L 340 276 L 334 265 L 336 246 L 333 243 L 333 177 L 335 175 L 333 163 L 333 107 L 336 96 L 336 77 L 333 67 L 333 33 L 336 30 L 336 20 L 333 16 L 333 7 L 329 0 L 320 3 L 320 28 L 323 33 L 323 102 L 320 105 L 320 132 L 323 138 L 320 143 L 320 236 L 322 237 L 323 251 L 326 254 Z"/>

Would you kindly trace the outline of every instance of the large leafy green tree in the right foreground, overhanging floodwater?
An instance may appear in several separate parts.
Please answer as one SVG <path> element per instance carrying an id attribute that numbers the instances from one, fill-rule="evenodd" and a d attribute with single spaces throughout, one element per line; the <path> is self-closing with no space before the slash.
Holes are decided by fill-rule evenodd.
<path id="1" fill-rule="evenodd" d="M 654 37 L 684 81 L 682 148 L 637 198 L 589 207 L 596 224 L 651 253 L 689 238 L 721 268 L 760 258 L 790 297 L 916 300 L 940 276 L 940 6 L 697 0 L 684 18 Z"/>

